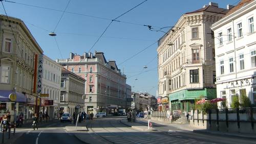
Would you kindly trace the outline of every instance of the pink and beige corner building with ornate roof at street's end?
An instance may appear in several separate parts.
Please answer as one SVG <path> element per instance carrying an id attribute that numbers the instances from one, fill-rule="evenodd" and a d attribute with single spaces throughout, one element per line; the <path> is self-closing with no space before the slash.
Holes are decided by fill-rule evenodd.
<path id="1" fill-rule="evenodd" d="M 104 53 L 70 53 L 69 59 L 57 59 L 69 71 L 86 80 L 84 111 L 107 114 L 126 108 L 126 76 L 115 61 L 106 61 Z"/>

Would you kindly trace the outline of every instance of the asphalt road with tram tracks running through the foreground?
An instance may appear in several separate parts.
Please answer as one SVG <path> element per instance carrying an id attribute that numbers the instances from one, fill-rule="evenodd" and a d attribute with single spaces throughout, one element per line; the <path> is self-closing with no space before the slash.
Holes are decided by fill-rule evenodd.
<path id="1" fill-rule="evenodd" d="M 139 131 L 120 123 L 121 118 L 124 117 L 87 121 L 82 125 L 87 126 L 88 131 L 68 132 L 65 127 L 73 125 L 60 122 L 42 124 L 35 131 L 29 127 L 18 129 L 17 132 L 24 134 L 14 143 L 84 143 L 77 138 L 77 135 L 87 143 L 256 143 L 255 139 L 199 134 L 163 125 L 154 125 L 158 131 Z"/>

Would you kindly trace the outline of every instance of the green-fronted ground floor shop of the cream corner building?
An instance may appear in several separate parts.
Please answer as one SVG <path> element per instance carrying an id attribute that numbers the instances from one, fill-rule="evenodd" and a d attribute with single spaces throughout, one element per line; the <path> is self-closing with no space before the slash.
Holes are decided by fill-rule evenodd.
<path id="1" fill-rule="evenodd" d="M 190 111 L 195 105 L 195 100 L 200 98 L 217 98 L 216 88 L 184 89 L 169 94 L 170 110 Z"/>

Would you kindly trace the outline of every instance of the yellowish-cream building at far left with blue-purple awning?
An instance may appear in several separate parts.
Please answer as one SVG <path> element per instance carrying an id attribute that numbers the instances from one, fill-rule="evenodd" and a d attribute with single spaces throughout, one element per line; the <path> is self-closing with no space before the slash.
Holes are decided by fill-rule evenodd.
<path id="1" fill-rule="evenodd" d="M 35 113 L 35 57 L 43 51 L 22 20 L 0 15 L 0 25 L 0 95 L 7 98 L 0 100 L 0 114 L 14 114 L 8 96 L 15 93 L 19 102 L 17 114 L 22 112 L 25 118 L 30 118 Z"/>

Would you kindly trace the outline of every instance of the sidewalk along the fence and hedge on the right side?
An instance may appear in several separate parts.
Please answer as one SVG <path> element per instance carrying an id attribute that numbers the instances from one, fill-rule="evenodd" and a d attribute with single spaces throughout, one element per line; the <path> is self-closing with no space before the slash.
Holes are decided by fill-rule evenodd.
<path id="1" fill-rule="evenodd" d="M 137 119 L 137 122 L 147 123 L 147 120 L 148 119 Z M 193 131 L 194 133 L 202 133 L 202 134 L 208 133 L 208 134 L 221 135 L 221 136 L 234 136 L 234 137 L 241 137 L 241 138 L 256 139 L 256 135 L 252 133 L 222 132 L 222 131 L 200 129 L 200 128 L 192 127 L 189 124 L 162 124 L 154 120 L 152 120 L 152 122 L 153 122 L 153 127 L 155 123 L 157 125 L 174 127 L 174 128 L 185 130 L 185 131 Z"/>

